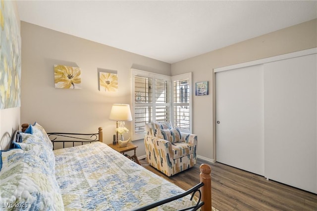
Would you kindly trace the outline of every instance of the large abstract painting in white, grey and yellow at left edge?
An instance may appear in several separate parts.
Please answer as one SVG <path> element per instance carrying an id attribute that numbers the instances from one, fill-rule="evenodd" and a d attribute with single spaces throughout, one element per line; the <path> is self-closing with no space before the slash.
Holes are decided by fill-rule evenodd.
<path id="1" fill-rule="evenodd" d="M 13 3 L 0 0 L 0 109 L 21 106 L 21 36 Z"/>

